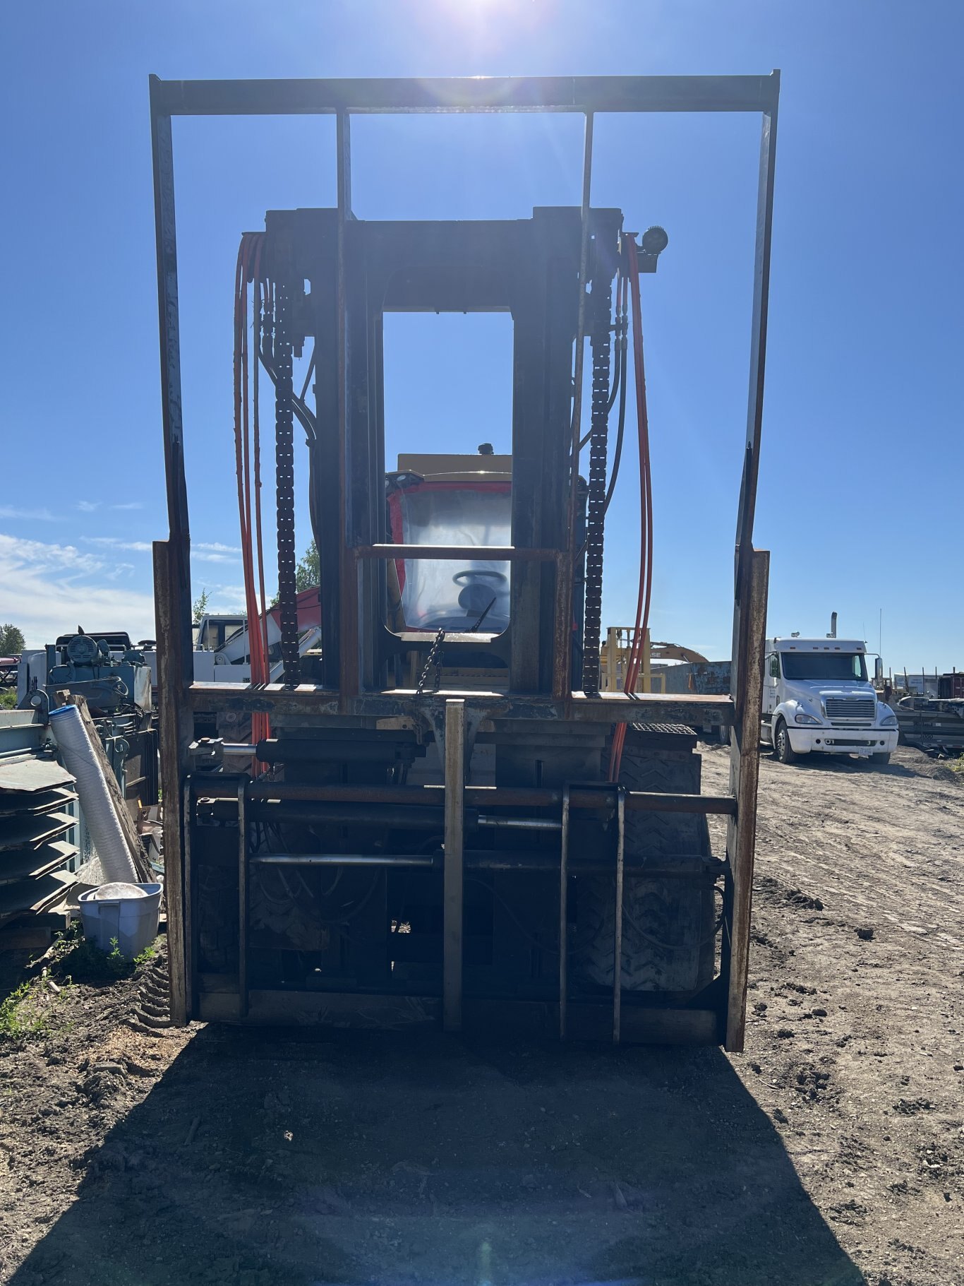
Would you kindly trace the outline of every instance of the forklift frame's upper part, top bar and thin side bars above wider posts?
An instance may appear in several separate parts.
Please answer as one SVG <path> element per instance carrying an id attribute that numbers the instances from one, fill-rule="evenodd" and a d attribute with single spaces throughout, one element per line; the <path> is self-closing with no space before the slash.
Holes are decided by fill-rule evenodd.
<path id="1" fill-rule="evenodd" d="M 177 249 L 175 222 L 174 116 L 335 116 L 339 228 L 351 208 L 352 114 L 490 113 L 490 112 L 758 112 L 762 118 L 757 188 L 753 315 L 749 359 L 747 441 L 736 521 L 735 602 L 749 584 L 753 516 L 760 462 L 766 356 L 770 246 L 772 235 L 774 162 L 780 73 L 769 76 L 544 76 L 442 78 L 222 80 L 165 81 L 150 77 L 150 126 L 161 323 L 161 382 L 165 476 L 171 572 L 179 599 L 175 625 L 179 675 L 190 684 L 189 518 L 184 471 L 184 426 L 177 316 Z M 343 432 L 343 426 L 339 430 Z M 346 563 L 348 559 L 346 559 Z M 348 575 L 346 567 L 346 575 Z M 560 610 L 562 616 L 562 610 Z M 734 634 L 742 635 L 734 621 Z M 734 639 L 736 642 L 736 639 Z M 745 642 L 740 638 L 740 642 Z M 734 649 L 734 657 L 740 651 Z M 347 675 L 344 676 L 347 678 Z M 343 696 L 357 684 L 342 683 Z M 734 697 L 739 687 L 734 689 Z M 564 696 L 555 693 L 557 698 Z M 657 703 L 658 705 L 658 703 Z M 347 711 L 346 711 L 347 712 Z M 654 716 L 658 716 L 658 711 Z"/>

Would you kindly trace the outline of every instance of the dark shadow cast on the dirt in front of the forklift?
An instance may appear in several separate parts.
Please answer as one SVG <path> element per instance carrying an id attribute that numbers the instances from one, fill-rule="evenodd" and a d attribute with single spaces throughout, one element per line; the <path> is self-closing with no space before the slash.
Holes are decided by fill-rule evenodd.
<path id="1" fill-rule="evenodd" d="M 864 1278 L 716 1049 L 201 1029 L 14 1286 Z"/>

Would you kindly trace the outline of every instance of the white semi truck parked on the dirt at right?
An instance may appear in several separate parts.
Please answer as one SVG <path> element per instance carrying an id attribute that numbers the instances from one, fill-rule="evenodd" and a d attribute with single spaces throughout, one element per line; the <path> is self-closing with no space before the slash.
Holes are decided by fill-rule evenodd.
<path id="1" fill-rule="evenodd" d="M 770 638 L 763 661 L 763 742 L 783 764 L 802 755 L 857 755 L 886 764 L 897 715 L 878 701 L 859 639 Z"/>

